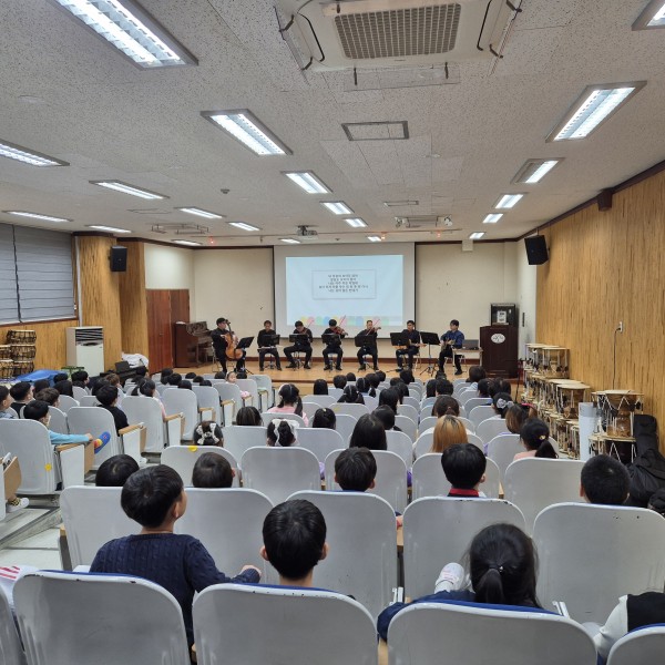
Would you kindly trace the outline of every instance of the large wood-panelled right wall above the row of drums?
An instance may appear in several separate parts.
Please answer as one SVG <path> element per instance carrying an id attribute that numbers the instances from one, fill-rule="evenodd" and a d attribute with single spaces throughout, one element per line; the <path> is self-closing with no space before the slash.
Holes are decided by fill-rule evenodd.
<path id="1" fill-rule="evenodd" d="M 612 388 L 615 375 L 615 388 L 644 392 L 645 411 L 665 431 L 665 174 L 615 194 L 611 211 L 590 206 L 545 235 L 536 341 L 569 347 L 571 377 L 594 390 Z"/>

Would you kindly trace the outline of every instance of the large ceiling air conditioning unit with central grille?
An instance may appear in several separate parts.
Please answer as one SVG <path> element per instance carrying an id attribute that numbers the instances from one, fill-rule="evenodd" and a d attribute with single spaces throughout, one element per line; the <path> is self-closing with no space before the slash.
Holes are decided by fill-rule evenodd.
<path id="1" fill-rule="evenodd" d="M 507 0 L 275 0 L 303 69 L 431 66 L 494 58 L 514 9 Z"/>

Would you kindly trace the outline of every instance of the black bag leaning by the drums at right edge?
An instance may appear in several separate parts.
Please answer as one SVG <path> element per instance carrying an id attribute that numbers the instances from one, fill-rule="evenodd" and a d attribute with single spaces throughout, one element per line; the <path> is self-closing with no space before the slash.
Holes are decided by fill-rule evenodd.
<path id="1" fill-rule="evenodd" d="M 658 423 L 653 416 L 634 417 L 636 457 L 628 467 L 633 505 L 647 507 L 651 495 L 665 488 L 665 457 L 658 449 Z"/>

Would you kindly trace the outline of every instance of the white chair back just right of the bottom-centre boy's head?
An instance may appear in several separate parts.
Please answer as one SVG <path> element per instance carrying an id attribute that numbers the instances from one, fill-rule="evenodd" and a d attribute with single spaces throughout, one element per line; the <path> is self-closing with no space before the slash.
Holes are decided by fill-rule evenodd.
<path id="1" fill-rule="evenodd" d="M 395 511 L 364 492 L 296 492 L 290 499 L 314 503 L 326 520 L 328 555 L 314 572 L 316 585 L 352 595 L 376 618 L 397 586 Z M 357 543 L 362 543 L 358 555 Z"/>

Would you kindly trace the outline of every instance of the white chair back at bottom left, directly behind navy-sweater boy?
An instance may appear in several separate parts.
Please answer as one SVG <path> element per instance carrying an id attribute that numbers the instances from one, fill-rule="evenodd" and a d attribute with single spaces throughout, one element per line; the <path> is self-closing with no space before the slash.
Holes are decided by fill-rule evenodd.
<path id="1" fill-rule="evenodd" d="M 17 582 L 14 598 L 31 665 L 188 662 L 181 607 L 147 580 L 39 571 Z"/>

